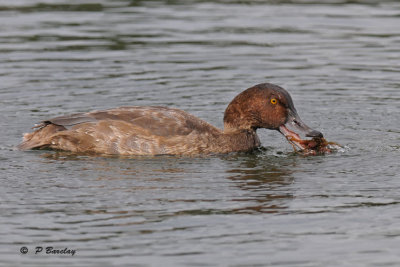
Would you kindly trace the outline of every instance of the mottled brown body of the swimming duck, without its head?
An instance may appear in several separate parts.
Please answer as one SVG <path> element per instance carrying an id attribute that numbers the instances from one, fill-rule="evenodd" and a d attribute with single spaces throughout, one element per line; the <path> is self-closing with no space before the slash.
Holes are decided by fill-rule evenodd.
<path id="1" fill-rule="evenodd" d="M 21 149 L 57 149 L 121 155 L 193 155 L 248 151 L 255 131 L 224 133 L 182 110 L 120 107 L 57 117 L 24 135 Z"/>

